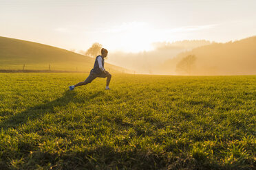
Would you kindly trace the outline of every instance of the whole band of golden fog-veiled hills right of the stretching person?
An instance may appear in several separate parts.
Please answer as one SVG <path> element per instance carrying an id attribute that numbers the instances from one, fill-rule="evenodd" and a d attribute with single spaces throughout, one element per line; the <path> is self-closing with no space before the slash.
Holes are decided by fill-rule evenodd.
<path id="1" fill-rule="evenodd" d="M 226 43 L 184 40 L 154 45 L 153 51 L 110 53 L 107 61 L 146 74 L 256 74 L 256 36 Z M 188 63 L 187 56 L 193 56 L 194 60 Z"/>

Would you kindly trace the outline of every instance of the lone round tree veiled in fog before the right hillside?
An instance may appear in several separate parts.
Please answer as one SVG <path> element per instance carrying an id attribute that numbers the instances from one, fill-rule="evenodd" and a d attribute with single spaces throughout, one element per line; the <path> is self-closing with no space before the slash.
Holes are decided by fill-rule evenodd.
<path id="1" fill-rule="evenodd" d="M 180 62 L 176 65 L 176 71 L 182 74 L 191 75 L 195 60 L 196 58 L 194 55 L 189 55 L 182 58 L 182 60 L 180 60 Z"/>

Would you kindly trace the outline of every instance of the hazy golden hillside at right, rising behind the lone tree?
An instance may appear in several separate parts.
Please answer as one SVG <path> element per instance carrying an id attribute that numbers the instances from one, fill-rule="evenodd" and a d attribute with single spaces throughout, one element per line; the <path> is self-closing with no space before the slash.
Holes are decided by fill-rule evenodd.
<path id="1" fill-rule="evenodd" d="M 194 75 L 255 75 L 256 36 L 235 42 L 213 43 L 191 51 L 180 53 L 176 58 L 165 62 L 165 71 L 175 73 L 182 58 L 195 55 Z"/>

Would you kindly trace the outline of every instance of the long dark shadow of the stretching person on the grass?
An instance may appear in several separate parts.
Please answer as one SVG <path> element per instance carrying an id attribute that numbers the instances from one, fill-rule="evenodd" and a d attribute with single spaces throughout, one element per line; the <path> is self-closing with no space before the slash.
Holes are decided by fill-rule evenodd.
<path id="1" fill-rule="evenodd" d="M 92 96 L 88 96 L 89 99 L 97 97 L 101 92 L 97 92 Z M 46 104 L 39 104 L 24 110 L 23 112 L 14 114 L 10 118 L 0 122 L 0 129 L 7 130 L 8 128 L 17 128 L 19 125 L 25 124 L 28 120 L 40 119 L 46 113 L 54 113 L 55 107 L 66 106 L 70 102 L 81 103 L 84 100 L 76 98 L 76 92 L 67 91 L 63 93 L 62 97 L 55 99 L 54 101 L 47 102 Z"/>

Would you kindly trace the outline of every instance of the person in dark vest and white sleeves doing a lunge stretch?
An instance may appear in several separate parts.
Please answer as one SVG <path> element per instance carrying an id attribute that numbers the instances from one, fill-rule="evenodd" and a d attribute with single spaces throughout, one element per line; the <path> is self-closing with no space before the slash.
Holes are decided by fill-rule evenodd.
<path id="1" fill-rule="evenodd" d="M 74 88 L 78 86 L 86 85 L 92 82 L 92 80 L 96 79 L 96 77 L 102 77 L 102 78 L 107 77 L 107 85 L 105 89 L 110 90 L 109 82 L 111 80 L 111 74 L 109 74 L 109 72 L 105 71 L 104 69 L 104 58 L 107 57 L 107 53 L 108 53 L 107 49 L 101 49 L 101 56 L 96 57 L 96 60 L 94 62 L 94 69 L 91 70 L 85 82 L 80 82 L 76 85 L 70 86 L 70 90 L 74 90 Z"/>

